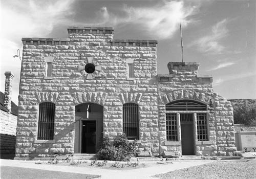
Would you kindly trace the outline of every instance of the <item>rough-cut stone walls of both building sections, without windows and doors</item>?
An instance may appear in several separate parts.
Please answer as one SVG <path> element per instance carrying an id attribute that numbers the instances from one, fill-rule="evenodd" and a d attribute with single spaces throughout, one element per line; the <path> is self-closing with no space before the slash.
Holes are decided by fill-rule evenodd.
<path id="1" fill-rule="evenodd" d="M 208 105 L 209 141 L 196 141 L 196 154 L 234 149 L 232 108 L 214 94 L 210 76 L 198 75 L 198 63 L 170 62 L 170 74 L 157 75 L 155 40 L 113 39 L 111 28 L 68 32 L 66 39 L 23 38 L 16 157 L 74 153 L 75 106 L 86 102 L 103 106 L 103 135 L 110 138 L 122 133 L 122 105 L 138 104 L 139 150 L 158 155 L 164 150 L 181 152 L 178 143 L 164 144 L 165 104 L 197 100 Z M 49 57 L 52 76 L 46 77 Z M 134 74 L 128 78 L 131 62 Z M 88 63 L 97 68 L 93 74 L 83 70 Z M 38 105 L 46 101 L 56 106 L 54 140 L 39 143 Z"/>

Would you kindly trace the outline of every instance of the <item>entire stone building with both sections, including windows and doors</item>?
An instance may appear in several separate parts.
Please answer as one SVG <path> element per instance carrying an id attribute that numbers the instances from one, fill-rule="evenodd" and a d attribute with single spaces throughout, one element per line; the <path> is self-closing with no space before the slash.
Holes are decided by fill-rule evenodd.
<path id="1" fill-rule="evenodd" d="M 155 156 L 236 150 L 232 106 L 199 63 L 169 62 L 169 74 L 157 74 L 156 40 L 113 32 L 71 27 L 69 38 L 22 39 L 16 158 L 96 153 L 101 133 L 123 132 Z"/>

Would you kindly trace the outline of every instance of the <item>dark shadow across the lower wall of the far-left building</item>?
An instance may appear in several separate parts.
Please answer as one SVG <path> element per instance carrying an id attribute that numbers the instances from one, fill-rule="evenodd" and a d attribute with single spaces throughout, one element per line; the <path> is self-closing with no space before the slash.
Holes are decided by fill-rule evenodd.
<path id="1" fill-rule="evenodd" d="M 0 136 L 1 159 L 13 159 L 15 156 L 16 136 L 5 135 Z"/>

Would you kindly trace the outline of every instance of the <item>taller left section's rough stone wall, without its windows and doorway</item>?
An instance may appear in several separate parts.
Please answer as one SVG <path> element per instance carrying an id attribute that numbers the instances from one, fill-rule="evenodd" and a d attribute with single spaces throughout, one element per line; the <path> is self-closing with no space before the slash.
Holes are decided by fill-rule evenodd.
<path id="1" fill-rule="evenodd" d="M 122 104 L 137 103 L 139 149 L 158 153 L 156 41 L 113 40 L 112 31 L 87 31 L 69 29 L 65 45 L 57 39 L 24 40 L 16 157 L 73 153 L 75 106 L 84 102 L 104 107 L 103 135 L 111 138 L 122 133 Z M 47 56 L 55 57 L 52 79 L 45 78 Z M 78 70 L 88 57 L 101 65 L 91 80 Z M 126 79 L 127 58 L 134 60 L 134 80 Z M 38 104 L 45 101 L 56 104 L 54 141 L 40 144 L 35 142 Z"/>

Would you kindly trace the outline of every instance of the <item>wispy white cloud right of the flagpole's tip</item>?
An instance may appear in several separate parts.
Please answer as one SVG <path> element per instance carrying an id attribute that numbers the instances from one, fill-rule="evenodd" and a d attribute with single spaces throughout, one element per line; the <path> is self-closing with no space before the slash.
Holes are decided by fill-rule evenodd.
<path id="1" fill-rule="evenodd" d="M 227 23 L 227 19 L 219 21 L 212 26 L 210 34 L 193 41 L 189 47 L 197 46 L 198 50 L 203 53 L 222 54 L 227 52 L 226 47 L 221 43 L 221 40 L 228 35 Z"/>

